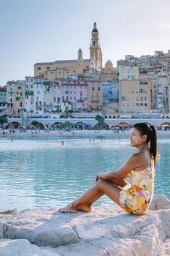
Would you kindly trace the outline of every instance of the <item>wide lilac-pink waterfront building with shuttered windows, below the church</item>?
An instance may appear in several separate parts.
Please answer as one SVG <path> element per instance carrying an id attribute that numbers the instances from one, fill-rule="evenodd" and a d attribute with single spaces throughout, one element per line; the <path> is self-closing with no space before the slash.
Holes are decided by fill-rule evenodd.
<path id="1" fill-rule="evenodd" d="M 70 105 L 72 111 L 88 108 L 88 81 L 77 79 L 61 79 L 61 102 Z"/>

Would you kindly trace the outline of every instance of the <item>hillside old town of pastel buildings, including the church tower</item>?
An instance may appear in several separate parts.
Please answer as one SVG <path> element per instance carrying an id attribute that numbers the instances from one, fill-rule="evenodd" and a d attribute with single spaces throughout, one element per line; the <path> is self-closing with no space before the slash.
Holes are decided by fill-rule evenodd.
<path id="1" fill-rule="evenodd" d="M 7 81 L 0 87 L 0 116 L 166 114 L 170 105 L 170 50 L 153 56 L 125 55 L 102 63 L 96 22 L 90 39 L 89 59 L 77 58 L 34 64 L 34 76 Z M 76 54 L 75 54 L 76 55 Z"/>

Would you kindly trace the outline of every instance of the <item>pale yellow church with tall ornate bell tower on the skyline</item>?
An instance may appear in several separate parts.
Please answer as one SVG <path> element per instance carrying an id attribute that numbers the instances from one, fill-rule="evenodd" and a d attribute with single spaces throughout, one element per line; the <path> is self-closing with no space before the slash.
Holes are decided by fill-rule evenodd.
<path id="1" fill-rule="evenodd" d="M 90 42 L 90 59 L 82 59 L 82 50 L 78 50 L 77 59 L 54 62 L 41 62 L 34 65 L 34 76 L 44 75 L 45 80 L 68 78 L 69 75 L 93 75 L 102 70 L 102 54 L 98 39 L 98 30 L 94 23 Z"/>

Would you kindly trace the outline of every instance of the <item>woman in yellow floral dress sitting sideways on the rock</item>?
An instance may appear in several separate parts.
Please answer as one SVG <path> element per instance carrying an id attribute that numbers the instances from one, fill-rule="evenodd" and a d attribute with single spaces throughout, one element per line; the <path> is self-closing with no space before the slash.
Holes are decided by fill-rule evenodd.
<path id="1" fill-rule="evenodd" d="M 154 189 L 155 162 L 157 155 L 157 132 L 148 123 L 134 124 L 130 136 L 131 146 L 137 149 L 135 154 L 117 170 L 99 173 L 96 184 L 81 197 L 66 207 L 61 213 L 91 211 L 92 204 L 102 195 L 107 195 L 127 213 L 142 215 L 150 206 Z M 125 181 L 131 178 L 131 184 Z"/>

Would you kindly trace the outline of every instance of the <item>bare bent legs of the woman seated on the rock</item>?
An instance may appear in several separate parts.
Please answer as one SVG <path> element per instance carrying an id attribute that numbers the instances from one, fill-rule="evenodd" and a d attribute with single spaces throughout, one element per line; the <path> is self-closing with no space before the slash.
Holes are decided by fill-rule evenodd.
<path id="1" fill-rule="evenodd" d="M 88 189 L 88 191 L 86 191 L 81 197 L 74 202 L 69 203 L 68 206 L 59 209 L 59 211 L 63 213 L 81 211 L 81 206 L 91 206 L 92 203 L 104 194 L 120 206 L 120 188 L 108 181 L 100 180 L 94 185 L 94 187 Z"/>

